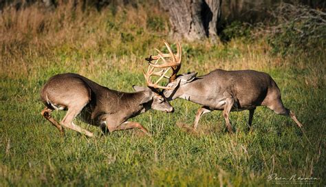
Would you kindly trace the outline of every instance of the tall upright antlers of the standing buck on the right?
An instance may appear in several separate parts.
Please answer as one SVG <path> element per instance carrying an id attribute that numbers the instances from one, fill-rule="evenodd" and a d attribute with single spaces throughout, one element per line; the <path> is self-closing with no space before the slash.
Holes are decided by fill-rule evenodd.
<path id="1" fill-rule="evenodd" d="M 175 54 L 173 54 L 169 43 L 164 41 L 164 44 L 166 45 L 166 48 L 168 49 L 169 54 L 163 54 L 160 50 L 157 50 L 155 48 L 155 50 L 158 52 L 158 54 L 155 56 L 150 56 L 149 58 L 146 58 L 146 61 L 149 61 L 149 65 L 151 67 L 156 67 L 156 68 L 169 67 L 169 69 L 172 68 L 173 72 L 172 72 L 171 77 L 169 77 L 169 81 L 172 82 L 173 80 L 175 80 L 177 78 L 177 72 L 179 72 L 180 67 L 181 67 L 182 47 L 180 45 L 180 42 L 177 42 L 177 54 L 175 55 Z M 171 61 L 166 62 L 165 58 L 171 58 Z M 157 61 L 159 61 L 160 59 L 162 59 L 162 61 L 164 62 L 163 64 L 157 64 Z M 157 61 L 155 63 L 151 63 L 151 61 L 153 61 L 153 60 L 157 60 Z M 166 69 L 164 69 L 162 71 L 164 72 L 165 70 Z M 164 73 L 166 73 L 166 72 L 164 72 Z M 157 75 L 157 74 L 154 74 L 154 75 Z M 166 76 L 164 76 L 164 77 L 168 78 Z"/>

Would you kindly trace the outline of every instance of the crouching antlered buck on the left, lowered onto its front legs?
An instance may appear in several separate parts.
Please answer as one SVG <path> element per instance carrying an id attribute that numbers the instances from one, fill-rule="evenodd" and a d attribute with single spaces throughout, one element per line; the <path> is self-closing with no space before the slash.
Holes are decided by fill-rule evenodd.
<path id="1" fill-rule="evenodd" d="M 93 137 L 93 133 L 74 124 L 77 115 L 80 115 L 81 120 L 87 124 L 100 126 L 103 133 L 140 129 L 150 135 L 140 123 L 127 120 L 149 109 L 166 113 L 172 113 L 174 109 L 160 91 L 160 89 L 170 88 L 158 85 L 162 78 L 155 83 L 151 80 L 151 76 L 159 74 L 155 72 L 155 68 L 148 67 L 146 73 L 143 70 L 143 74 L 147 87 L 133 86 L 134 93 L 109 89 L 79 74 L 66 73 L 52 76 L 41 89 L 41 100 L 45 104 L 41 115 L 62 135 L 64 135 L 64 126 L 87 137 Z M 67 111 L 60 123 L 50 115 L 54 110 Z"/>

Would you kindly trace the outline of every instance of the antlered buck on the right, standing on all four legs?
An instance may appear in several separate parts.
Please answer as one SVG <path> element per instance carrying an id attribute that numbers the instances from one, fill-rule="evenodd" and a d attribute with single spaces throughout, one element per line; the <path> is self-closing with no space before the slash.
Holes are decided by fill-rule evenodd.
<path id="1" fill-rule="evenodd" d="M 145 60 L 151 67 L 161 68 L 163 72 L 172 70 L 170 77 L 164 75 L 164 78 L 169 79 L 169 83 L 166 85 L 168 89 L 163 91 L 163 95 L 168 101 L 182 98 L 202 105 L 195 115 L 194 131 L 196 131 L 202 115 L 215 110 L 223 111 L 229 133 L 232 133 L 229 120 L 230 112 L 249 110 L 248 129 L 251 129 L 254 110 L 259 106 L 268 107 L 279 115 L 292 118 L 300 128 L 303 126 L 296 119 L 294 112 L 284 107 L 281 91 L 269 74 L 250 69 L 236 71 L 215 69 L 203 76 L 197 76 L 197 72 L 177 75 L 181 68 L 182 47 L 177 42 L 177 54 L 175 55 L 169 43 L 164 41 L 164 44 L 169 53 L 164 54 L 155 49 L 158 54 L 145 58 Z M 163 63 L 157 63 L 159 60 L 162 60 Z M 155 61 L 155 63 L 151 63 L 151 61 Z"/>

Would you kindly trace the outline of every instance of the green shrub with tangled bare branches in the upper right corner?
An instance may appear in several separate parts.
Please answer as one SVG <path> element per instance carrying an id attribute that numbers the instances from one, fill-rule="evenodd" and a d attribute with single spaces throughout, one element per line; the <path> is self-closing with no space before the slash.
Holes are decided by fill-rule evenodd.
<path id="1" fill-rule="evenodd" d="M 309 52 L 313 48 L 325 50 L 326 13 L 303 5 L 282 3 L 272 12 L 278 19 L 270 27 L 268 42 L 274 54 Z"/>

